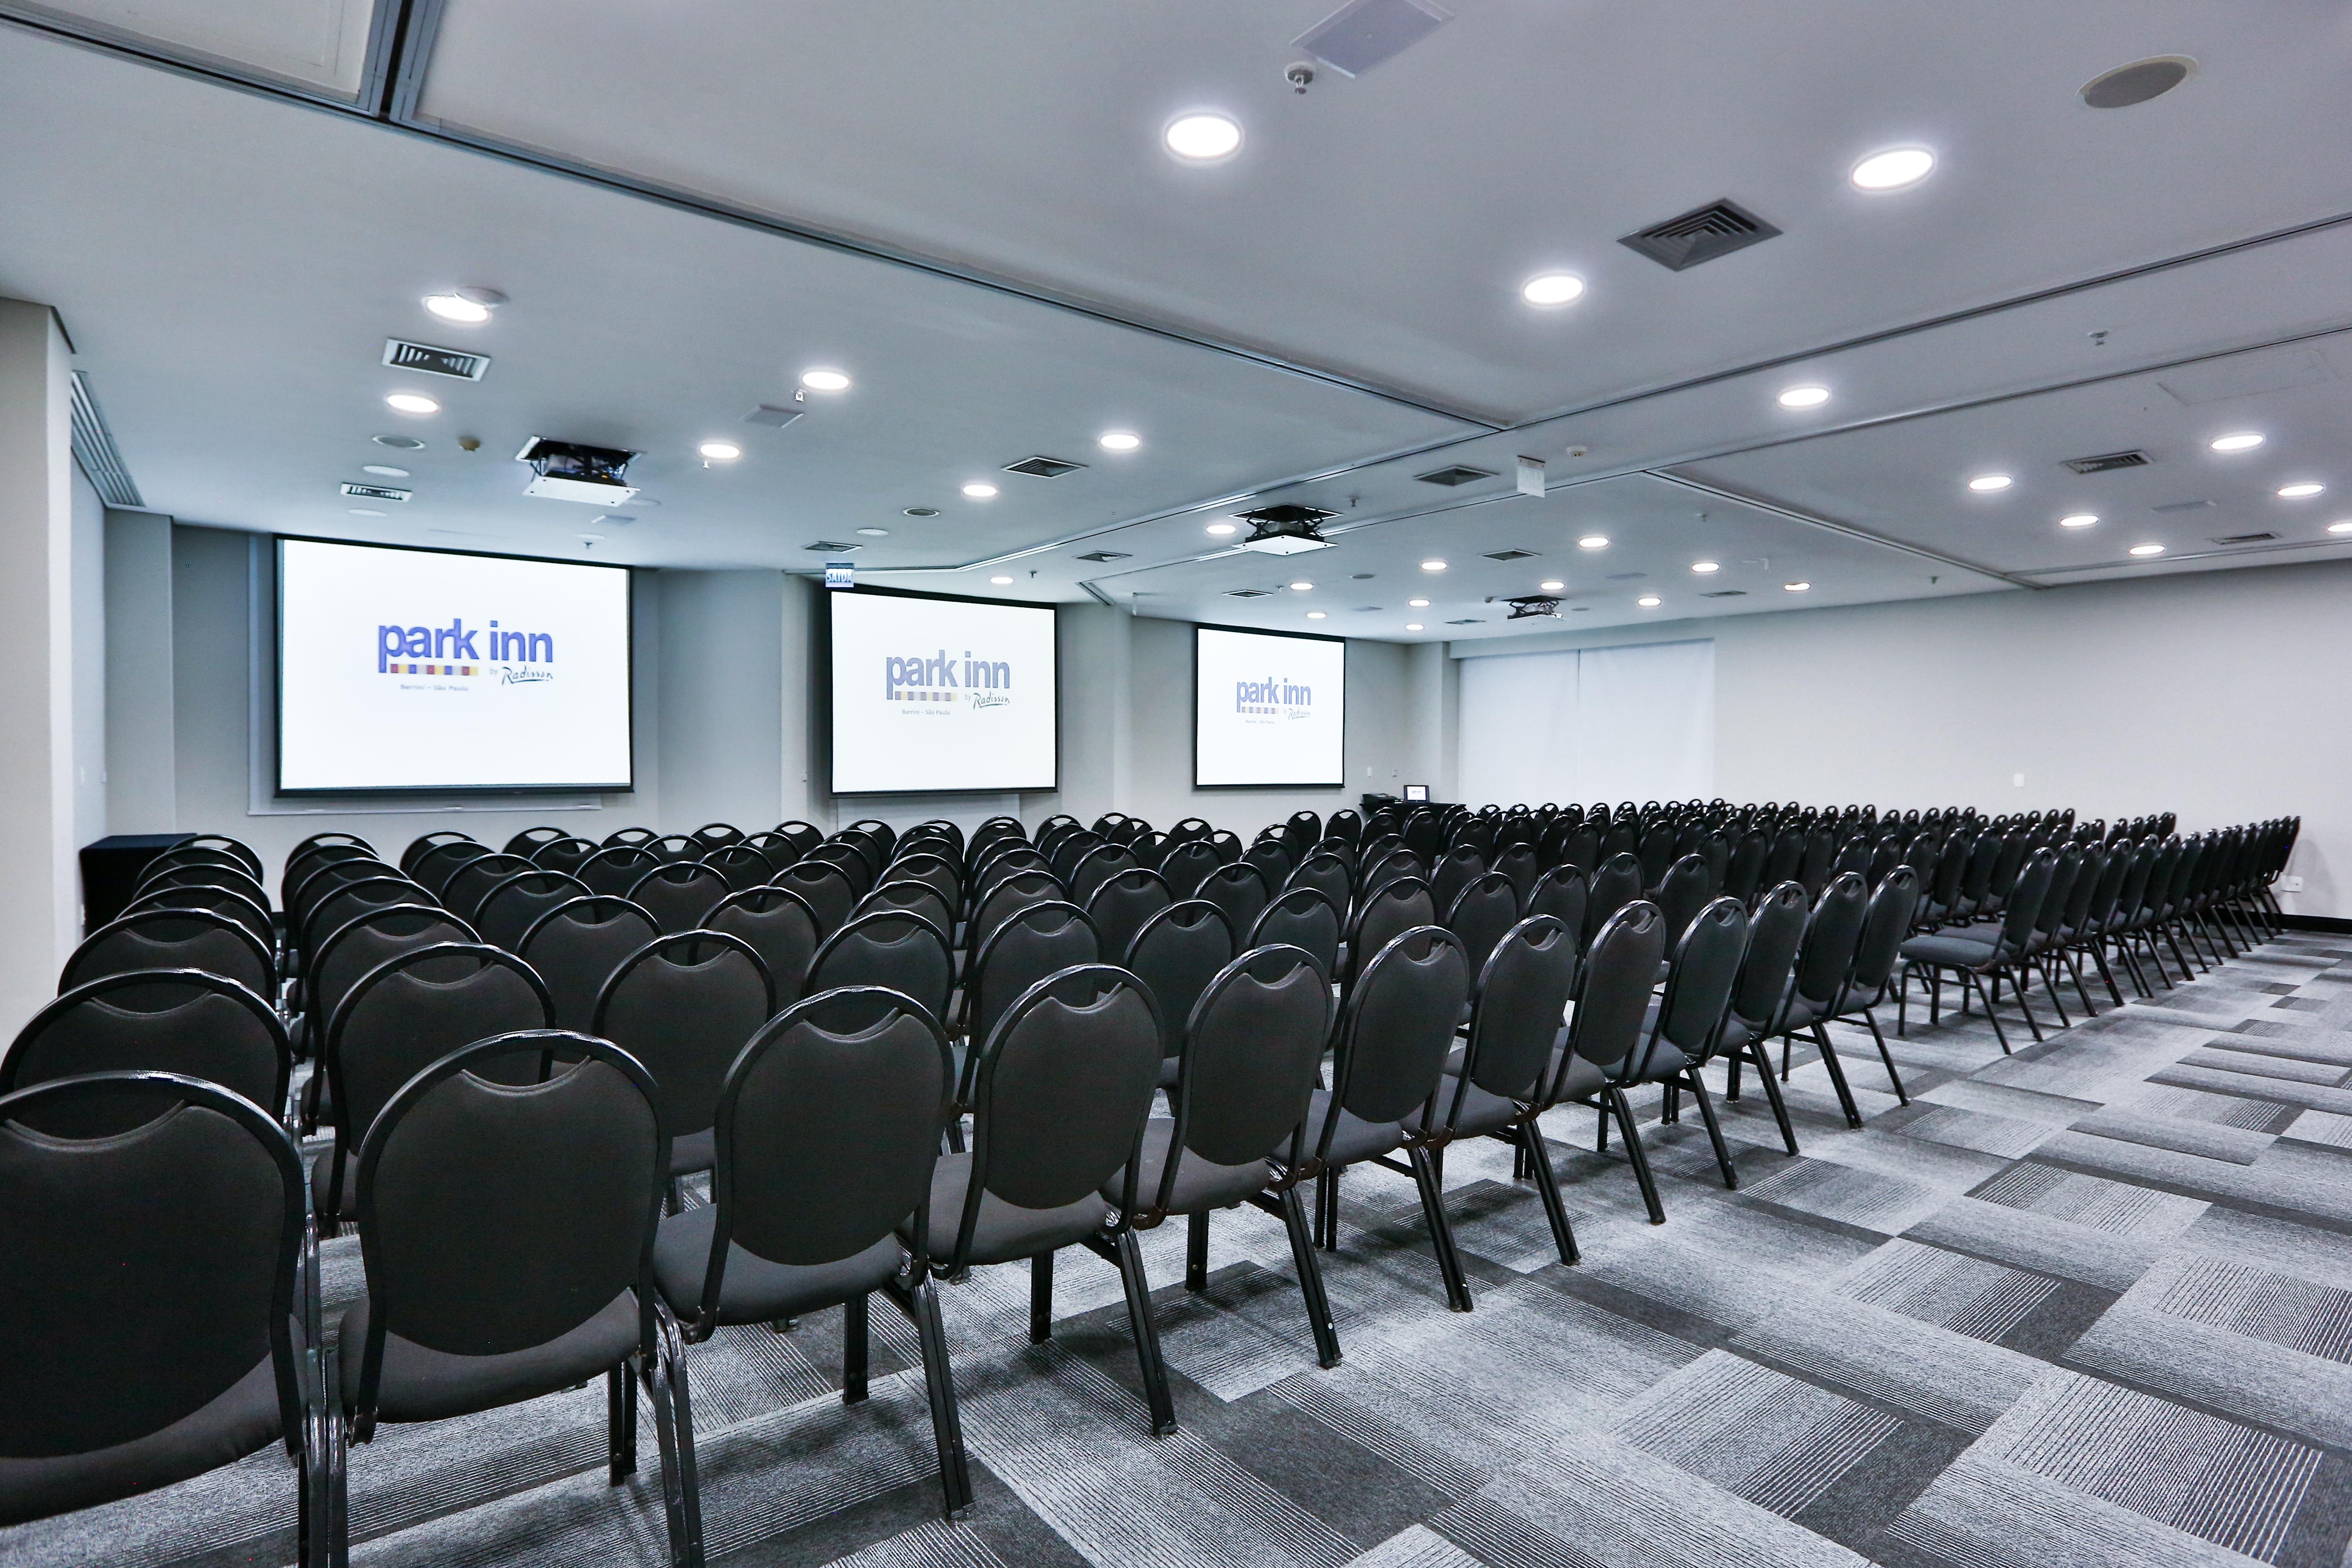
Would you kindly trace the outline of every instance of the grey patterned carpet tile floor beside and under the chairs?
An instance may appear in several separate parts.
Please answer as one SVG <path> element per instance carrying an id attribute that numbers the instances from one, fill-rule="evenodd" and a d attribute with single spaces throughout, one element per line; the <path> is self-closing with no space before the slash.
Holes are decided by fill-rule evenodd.
<path id="1" fill-rule="evenodd" d="M 2072 992 L 2067 994 L 2074 1006 Z M 1729 1107 L 1740 1190 L 1696 1119 L 1649 1121 L 1644 1220 L 1592 1114 L 1545 1131 L 1585 1260 L 1562 1267 L 1501 1145 L 1446 1204 L 1472 1314 L 1411 1182 L 1352 1173 L 1319 1371 L 1282 1227 L 1218 1215 L 1211 1281 L 1145 1239 L 1181 1432 L 1148 1434 L 1117 1276 L 946 1288 L 976 1505 L 946 1523 L 913 1335 L 875 1307 L 875 1389 L 842 1406 L 840 1314 L 689 1352 L 703 1521 L 727 1563 L 858 1568 L 2122 1568 L 2352 1563 L 2352 940 L 2288 936 L 2002 1056 L 1926 1030 L 1886 1093 L 1839 1032 L 1865 1128 L 1818 1063 L 1802 1157 Z M 2077 1006 L 2079 1013 L 2079 1006 Z M 2006 1013 L 2013 1023 L 2016 1016 Z M 1889 1030 L 1891 1034 L 1891 1030 Z M 1719 1081 L 1719 1070 L 1717 1081 Z M 336 1302 L 355 1241 L 329 1248 Z M 604 1483 L 600 1387 L 388 1427 L 350 1460 L 353 1561 L 663 1561 L 652 1420 Z M 71 1519 L 0 1561 L 282 1563 L 280 1453 Z"/>

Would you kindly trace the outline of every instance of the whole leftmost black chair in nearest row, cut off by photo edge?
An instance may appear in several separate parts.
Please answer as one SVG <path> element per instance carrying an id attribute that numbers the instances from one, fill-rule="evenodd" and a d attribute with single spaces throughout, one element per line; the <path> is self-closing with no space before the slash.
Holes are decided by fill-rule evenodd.
<path id="1" fill-rule="evenodd" d="M 108 1131 L 33 1131 L 66 1126 Z M 0 1291 L 0 1526 L 282 1443 L 299 1556 L 322 1561 L 318 1239 L 301 1154 L 270 1112 L 172 1072 L 0 1095 L 0 1258 L 19 1279 Z"/>

